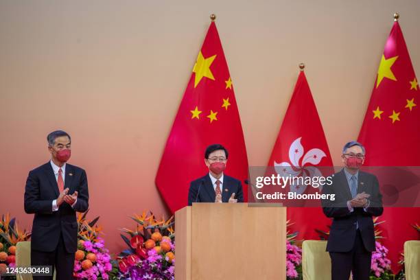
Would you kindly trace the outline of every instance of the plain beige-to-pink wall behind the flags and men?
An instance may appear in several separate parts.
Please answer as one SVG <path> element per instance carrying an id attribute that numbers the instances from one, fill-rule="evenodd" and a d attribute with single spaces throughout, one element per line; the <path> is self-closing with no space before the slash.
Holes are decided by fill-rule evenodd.
<path id="1" fill-rule="evenodd" d="M 167 213 L 154 176 L 214 12 L 250 165 L 266 165 L 298 63 L 334 163 L 355 139 L 384 43 L 401 14 L 420 67 L 420 1 L 1 1 L 0 213 L 25 226 L 27 172 L 48 160 L 45 137 L 73 137 L 89 177 L 91 215 L 108 247 L 143 209 Z"/>

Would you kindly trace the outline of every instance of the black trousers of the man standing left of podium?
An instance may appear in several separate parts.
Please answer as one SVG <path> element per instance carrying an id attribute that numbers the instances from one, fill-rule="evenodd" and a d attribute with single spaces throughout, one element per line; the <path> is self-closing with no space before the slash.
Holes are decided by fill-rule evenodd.
<path id="1" fill-rule="evenodd" d="M 58 240 L 56 250 L 52 252 L 40 252 L 31 250 L 32 266 L 52 266 L 51 276 L 34 276 L 34 280 L 52 280 L 54 268 L 56 280 L 73 280 L 74 253 L 68 253 L 62 235 Z"/>

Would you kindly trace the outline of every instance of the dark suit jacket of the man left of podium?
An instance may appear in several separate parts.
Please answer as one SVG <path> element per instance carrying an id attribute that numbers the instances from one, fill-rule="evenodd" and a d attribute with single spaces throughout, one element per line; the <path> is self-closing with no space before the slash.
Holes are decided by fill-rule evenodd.
<path id="1" fill-rule="evenodd" d="M 65 188 L 69 188 L 68 194 L 78 191 L 78 201 L 74 207 L 63 202 L 58 211 L 52 211 L 52 202 L 58 198 L 59 191 L 51 163 L 45 163 L 29 172 L 25 186 L 25 212 L 35 214 L 32 224 L 32 250 L 52 252 L 62 234 L 67 252 L 76 251 L 78 223 L 75 212 L 84 212 L 89 207 L 86 172 L 67 163 Z"/>

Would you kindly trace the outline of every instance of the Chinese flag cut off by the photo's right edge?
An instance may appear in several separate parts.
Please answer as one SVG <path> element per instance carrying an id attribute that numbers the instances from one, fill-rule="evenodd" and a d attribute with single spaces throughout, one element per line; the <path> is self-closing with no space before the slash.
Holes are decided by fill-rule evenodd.
<path id="1" fill-rule="evenodd" d="M 419 85 L 404 36 L 395 21 L 382 54 L 371 101 L 358 141 L 366 147 L 364 165 L 420 166 Z M 379 178 L 381 184 L 381 178 Z M 419 208 L 384 208 L 380 220 L 383 244 L 389 249 L 393 271 L 406 240 L 417 240 L 411 224 L 419 222 Z"/>

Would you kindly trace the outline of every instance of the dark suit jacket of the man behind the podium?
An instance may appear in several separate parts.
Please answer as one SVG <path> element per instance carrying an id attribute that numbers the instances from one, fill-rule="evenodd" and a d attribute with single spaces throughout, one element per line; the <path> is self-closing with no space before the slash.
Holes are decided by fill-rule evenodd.
<path id="1" fill-rule="evenodd" d="M 237 202 L 244 202 L 244 195 L 242 192 L 242 184 L 231 176 L 223 174 L 222 184 L 222 202 L 229 202 L 229 198 L 235 193 Z M 200 189 L 200 192 L 198 192 Z M 211 183 L 210 175 L 206 174 L 197 180 L 191 182 L 188 192 L 188 205 L 191 206 L 193 202 L 214 202 L 215 191 Z"/>

